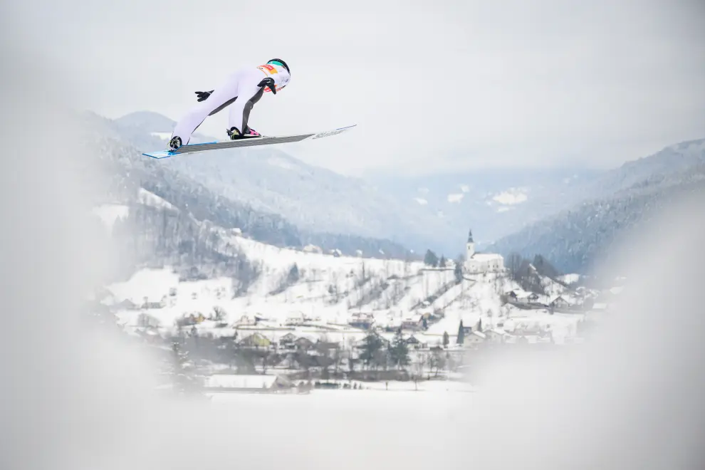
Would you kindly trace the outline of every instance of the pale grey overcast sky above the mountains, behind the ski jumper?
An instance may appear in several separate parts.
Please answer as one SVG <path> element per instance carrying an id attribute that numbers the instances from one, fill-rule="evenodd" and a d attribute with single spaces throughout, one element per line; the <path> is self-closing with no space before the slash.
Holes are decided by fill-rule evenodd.
<path id="1" fill-rule="evenodd" d="M 341 172 L 615 167 L 705 137 L 703 1 L 68 0 L 15 9 L 75 104 L 177 119 L 236 68 L 281 57 L 266 135 L 357 130 L 286 150 Z M 223 138 L 226 113 L 201 129 Z"/>

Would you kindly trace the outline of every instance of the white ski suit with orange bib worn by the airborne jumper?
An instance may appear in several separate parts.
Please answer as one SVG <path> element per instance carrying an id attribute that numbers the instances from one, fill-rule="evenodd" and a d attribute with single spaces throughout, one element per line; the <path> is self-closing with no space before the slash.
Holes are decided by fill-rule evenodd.
<path id="1" fill-rule="evenodd" d="M 262 98 L 262 93 L 271 93 L 266 86 L 259 86 L 263 78 L 272 78 L 278 92 L 289 83 L 291 75 L 286 68 L 270 63 L 264 66 L 242 68 L 232 73 L 224 83 L 213 90 L 208 98 L 194 106 L 174 127 L 173 137 L 180 137 L 182 145 L 187 145 L 193 132 L 209 115 L 218 113 L 228 105 L 230 115 L 228 128 L 236 127 L 245 134 L 250 110 Z"/>

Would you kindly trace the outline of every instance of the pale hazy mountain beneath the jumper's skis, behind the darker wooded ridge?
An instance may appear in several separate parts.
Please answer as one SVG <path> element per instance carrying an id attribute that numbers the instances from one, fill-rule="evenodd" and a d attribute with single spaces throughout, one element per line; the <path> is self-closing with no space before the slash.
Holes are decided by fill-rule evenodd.
<path id="1" fill-rule="evenodd" d="M 160 137 L 168 138 L 174 126 L 147 112 L 115 122 L 125 138 L 145 150 L 164 147 Z M 283 216 L 298 227 L 304 243 L 320 241 L 318 234 L 342 234 L 387 239 L 420 252 L 447 244 L 446 234 L 456 227 L 431 209 L 399 202 L 384 188 L 305 164 L 276 147 L 185 155 L 160 164 L 223 197 Z M 455 229 L 464 234 L 468 227 Z M 461 247 L 456 244 L 454 251 Z"/>

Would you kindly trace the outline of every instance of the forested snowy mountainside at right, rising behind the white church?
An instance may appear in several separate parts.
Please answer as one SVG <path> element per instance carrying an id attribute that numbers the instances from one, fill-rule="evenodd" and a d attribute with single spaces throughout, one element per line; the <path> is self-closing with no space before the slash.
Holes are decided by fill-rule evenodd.
<path id="1" fill-rule="evenodd" d="M 705 200 L 705 140 L 671 145 L 580 187 L 579 203 L 500 239 L 491 249 L 543 254 L 566 272 L 585 273 L 610 256 L 628 231 L 685 194 Z"/>

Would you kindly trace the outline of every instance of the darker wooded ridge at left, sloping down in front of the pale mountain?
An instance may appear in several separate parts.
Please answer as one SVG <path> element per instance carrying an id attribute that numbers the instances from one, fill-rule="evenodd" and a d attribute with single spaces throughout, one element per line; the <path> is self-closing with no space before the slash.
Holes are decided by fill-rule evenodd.
<path id="1" fill-rule="evenodd" d="M 85 134 L 81 137 L 81 145 L 90 147 L 105 174 L 110 175 L 109 186 L 100 189 L 100 200 L 95 204 L 112 207 L 105 209 L 108 213 L 122 211 L 120 213 L 128 214 L 116 229 L 125 232 L 125 236 L 118 239 L 124 241 L 126 251 L 136 254 L 136 263 L 169 261 L 186 251 L 194 255 L 200 242 L 193 236 L 203 221 L 227 229 L 239 229 L 252 239 L 277 246 L 303 248 L 315 244 L 324 251 L 338 250 L 348 254 L 362 251 L 363 256 L 412 256 L 404 246 L 390 240 L 302 231 L 281 214 L 219 194 L 188 172 L 164 163 L 169 160 L 142 156 L 142 148 L 163 145 L 160 137 L 90 113 L 81 117 Z M 158 125 L 158 115 L 142 113 L 140 117 L 149 124 L 156 119 Z M 145 197 L 152 202 L 158 197 L 163 203 L 157 207 L 145 204 Z M 122 209 L 118 209 L 120 207 Z M 177 211 L 167 210 L 169 207 Z M 186 249 L 187 246 L 190 248 Z"/>

